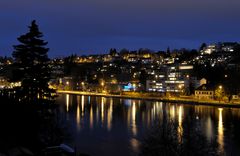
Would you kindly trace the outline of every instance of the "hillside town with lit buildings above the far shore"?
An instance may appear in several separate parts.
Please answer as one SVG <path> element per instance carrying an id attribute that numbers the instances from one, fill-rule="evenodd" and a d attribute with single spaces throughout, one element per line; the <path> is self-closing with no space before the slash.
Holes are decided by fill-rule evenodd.
<path id="1" fill-rule="evenodd" d="M 234 102 L 240 94 L 240 44 L 203 43 L 198 50 L 129 51 L 52 58 L 49 85 L 57 90 L 105 94 L 148 93 L 160 97 Z M 15 63 L 0 57 L 0 89 L 21 86 Z"/>

